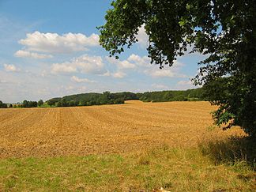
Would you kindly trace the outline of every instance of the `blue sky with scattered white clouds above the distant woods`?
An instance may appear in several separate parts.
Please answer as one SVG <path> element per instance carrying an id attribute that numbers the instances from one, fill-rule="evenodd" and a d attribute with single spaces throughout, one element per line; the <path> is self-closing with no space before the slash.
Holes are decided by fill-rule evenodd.
<path id="1" fill-rule="evenodd" d="M 0 100 L 48 100 L 82 92 L 147 92 L 196 88 L 203 58 L 183 55 L 174 66 L 151 65 L 148 36 L 109 58 L 96 26 L 109 0 L 0 0 Z"/>

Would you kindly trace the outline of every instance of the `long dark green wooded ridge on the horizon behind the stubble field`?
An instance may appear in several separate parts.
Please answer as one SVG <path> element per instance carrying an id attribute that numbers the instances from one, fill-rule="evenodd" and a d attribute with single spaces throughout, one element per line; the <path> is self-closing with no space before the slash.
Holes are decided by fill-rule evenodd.
<path id="1" fill-rule="evenodd" d="M 63 96 L 47 100 L 51 107 L 91 106 L 102 104 L 124 104 L 125 100 L 141 100 L 143 102 L 205 100 L 203 89 L 188 89 L 186 91 L 161 92 L 103 92 L 81 93 L 72 96 Z"/>

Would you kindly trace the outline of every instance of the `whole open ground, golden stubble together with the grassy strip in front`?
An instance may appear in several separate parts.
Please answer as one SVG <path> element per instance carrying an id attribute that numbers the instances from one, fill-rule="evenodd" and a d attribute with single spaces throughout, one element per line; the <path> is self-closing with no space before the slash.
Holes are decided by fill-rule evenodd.
<path id="1" fill-rule="evenodd" d="M 211 158 L 206 143 L 245 135 L 213 126 L 214 109 L 208 102 L 140 101 L 2 109 L 0 191 L 253 190 L 247 162 Z"/>

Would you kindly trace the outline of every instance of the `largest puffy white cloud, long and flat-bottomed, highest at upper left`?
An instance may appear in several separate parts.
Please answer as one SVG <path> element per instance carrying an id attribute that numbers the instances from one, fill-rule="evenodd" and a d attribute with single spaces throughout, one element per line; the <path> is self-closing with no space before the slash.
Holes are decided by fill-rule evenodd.
<path id="1" fill-rule="evenodd" d="M 28 51 L 39 51 L 47 53 L 72 53 L 74 51 L 85 51 L 87 47 L 98 46 L 99 36 L 92 33 L 85 36 L 81 33 L 66 33 L 62 36 L 57 33 L 33 32 L 28 33 L 25 39 L 19 40 Z"/>

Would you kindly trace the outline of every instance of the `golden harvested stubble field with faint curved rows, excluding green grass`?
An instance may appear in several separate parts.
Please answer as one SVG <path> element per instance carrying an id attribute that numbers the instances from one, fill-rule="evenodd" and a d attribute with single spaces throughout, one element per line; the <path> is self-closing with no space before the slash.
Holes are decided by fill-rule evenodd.
<path id="1" fill-rule="evenodd" d="M 0 157 L 84 156 L 243 134 L 213 129 L 208 102 L 0 110 Z"/>

